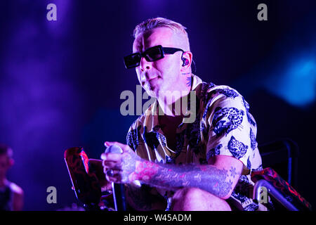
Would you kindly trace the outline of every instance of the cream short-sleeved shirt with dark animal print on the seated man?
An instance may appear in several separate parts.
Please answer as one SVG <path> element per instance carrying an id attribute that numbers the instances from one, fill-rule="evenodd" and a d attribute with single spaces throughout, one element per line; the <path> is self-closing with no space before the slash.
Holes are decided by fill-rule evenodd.
<path id="1" fill-rule="evenodd" d="M 192 77 L 191 91 L 196 95 L 195 121 L 186 123 L 183 119 L 177 127 L 175 149 L 167 146 L 159 126 L 157 101 L 133 122 L 126 136 L 127 144 L 140 158 L 152 162 L 207 164 L 215 155 L 237 158 L 243 162 L 244 169 L 230 200 L 239 210 L 266 210 L 251 199 L 254 182 L 249 172 L 262 169 L 262 165 L 256 122 L 249 113 L 249 104 L 235 89 L 202 82 L 196 75 Z M 156 189 L 166 199 L 173 194 Z"/>

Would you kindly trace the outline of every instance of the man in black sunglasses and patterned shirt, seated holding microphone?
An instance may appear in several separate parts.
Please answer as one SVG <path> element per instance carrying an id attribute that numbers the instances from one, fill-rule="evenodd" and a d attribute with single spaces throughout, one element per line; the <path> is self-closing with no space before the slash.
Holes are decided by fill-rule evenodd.
<path id="1" fill-rule="evenodd" d="M 105 142 L 123 150 L 101 155 L 107 180 L 126 184 L 134 210 L 264 209 L 249 198 L 249 172 L 261 169 L 261 156 L 248 103 L 234 89 L 192 74 L 183 25 L 153 18 L 136 26 L 134 37 L 126 68 L 136 68 L 157 101 L 132 124 L 127 145 Z"/>

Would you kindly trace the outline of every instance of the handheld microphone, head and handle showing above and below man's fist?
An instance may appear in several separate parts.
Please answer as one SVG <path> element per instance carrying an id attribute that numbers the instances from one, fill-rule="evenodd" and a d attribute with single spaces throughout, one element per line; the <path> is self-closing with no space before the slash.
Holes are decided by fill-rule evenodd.
<path id="1" fill-rule="evenodd" d="M 121 154 L 123 153 L 123 150 L 119 146 L 113 145 L 105 149 L 105 153 Z M 126 195 L 124 184 L 112 183 L 112 188 L 115 211 L 126 211 Z"/>

